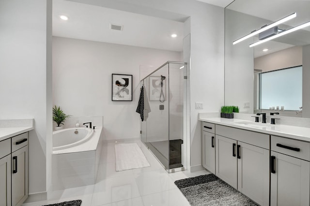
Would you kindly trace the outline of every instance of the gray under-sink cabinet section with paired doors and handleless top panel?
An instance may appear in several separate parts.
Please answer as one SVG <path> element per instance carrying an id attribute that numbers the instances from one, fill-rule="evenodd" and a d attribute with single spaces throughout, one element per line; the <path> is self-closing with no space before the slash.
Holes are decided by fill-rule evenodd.
<path id="1" fill-rule="evenodd" d="M 269 205 L 269 135 L 216 125 L 216 175 Z"/>

